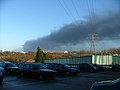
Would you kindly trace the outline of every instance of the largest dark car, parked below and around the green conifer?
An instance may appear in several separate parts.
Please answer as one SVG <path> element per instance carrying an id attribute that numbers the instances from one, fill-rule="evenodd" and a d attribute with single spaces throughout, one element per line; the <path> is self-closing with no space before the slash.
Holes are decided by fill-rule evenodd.
<path id="1" fill-rule="evenodd" d="M 54 79 L 57 75 L 55 70 L 47 69 L 43 63 L 24 63 L 21 68 L 21 76 L 38 77 L 39 79 Z"/>

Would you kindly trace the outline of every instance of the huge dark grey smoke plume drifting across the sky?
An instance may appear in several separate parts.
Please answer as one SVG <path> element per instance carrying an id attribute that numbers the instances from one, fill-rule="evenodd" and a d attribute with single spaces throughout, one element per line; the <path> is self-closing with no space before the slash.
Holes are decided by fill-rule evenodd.
<path id="1" fill-rule="evenodd" d="M 120 13 L 109 16 L 93 15 L 80 22 L 66 24 L 48 36 L 26 41 L 23 49 L 36 51 L 38 46 L 43 50 L 89 49 L 88 34 L 97 34 L 98 46 L 102 49 L 120 47 Z"/>

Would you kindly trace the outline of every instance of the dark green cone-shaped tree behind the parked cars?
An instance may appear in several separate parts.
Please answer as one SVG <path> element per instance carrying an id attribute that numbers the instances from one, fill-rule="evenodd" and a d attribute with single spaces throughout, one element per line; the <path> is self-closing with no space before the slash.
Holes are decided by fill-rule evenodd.
<path id="1" fill-rule="evenodd" d="M 37 48 L 36 59 L 35 62 L 42 62 L 44 63 L 44 53 L 40 47 Z"/>

